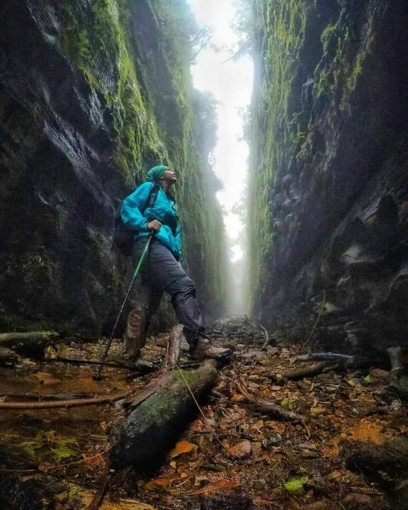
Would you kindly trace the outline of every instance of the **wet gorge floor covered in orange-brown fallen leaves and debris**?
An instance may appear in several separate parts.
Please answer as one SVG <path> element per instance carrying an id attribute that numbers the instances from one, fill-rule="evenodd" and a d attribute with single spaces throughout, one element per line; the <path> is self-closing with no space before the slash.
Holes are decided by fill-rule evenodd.
<path id="1" fill-rule="evenodd" d="M 382 445 L 407 436 L 408 414 L 388 392 L 387 374 L 330 371 L 276 385 L 271 374 L 310 366 L 293 364 L 299 345 L 282 342 L 262 350 L 261 330 L 232 321 L 222 327 L 221 340 L 233 341 L 234 354 L 219 370 L 215 391 L 201 403 L 206 420 L 197 409 L 155 472 L 111 472 L 101 510 L 393 508 L 382 484 L 346 467 L 359 442 Z M 214 328 L 220 332 L 221 326 Z M 162 364 L 167 339 L 166 334 L 150 337 L 144 360 Z M 48 347 L 46 355 L 99 360 L 105 343 L 61 342 Z M 111 359 L 119 355 L 120 342 L 114 341 Z M 96 370 L 92 365 L 22 359 L 14 368 L 0 369 L 0 401 L 137 391 L 158 377 L 157 372 L 137 376 L 106 367 L 103 380 L 95 381 Z M 256 410 L 248 394 L 305 420 L 293 424 L 272 419 Z M 3 497 L 8 491 L 10 510 L 88 508 L 103 479 L 109 423 L 124 416 L 120 401 L 71 409 L 2 410 L 0 489 Z M 35 506 L 39 500 L 42 506 Z"/>

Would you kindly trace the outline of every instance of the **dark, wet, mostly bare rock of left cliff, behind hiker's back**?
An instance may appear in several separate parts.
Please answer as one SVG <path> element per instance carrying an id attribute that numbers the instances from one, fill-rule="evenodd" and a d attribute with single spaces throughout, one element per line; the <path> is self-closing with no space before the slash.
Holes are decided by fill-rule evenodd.
<path id="1" fill-rule="evenodd" d="M 114 206 L 101 177 L 111 134 L 97 100 L 42 36 L 59 30 L 52 12 L 35 2 L 1 10 L 0 321 L 97 329 L 110 306 L 112 262 L 101 245 Z"/>

